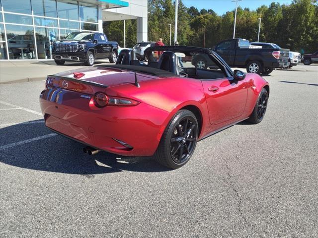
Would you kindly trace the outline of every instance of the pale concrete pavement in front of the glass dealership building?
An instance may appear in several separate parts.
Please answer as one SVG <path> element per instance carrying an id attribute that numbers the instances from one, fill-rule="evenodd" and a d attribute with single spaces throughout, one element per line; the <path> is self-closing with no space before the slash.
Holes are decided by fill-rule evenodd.
<path id="1" fill-rule="evenodd" d="M 105 63 L 109 64 L 109 61 L 98 60 L 95 65 Z M 0 84 L 45 80 L 48 74 L 82 67 L 87 66 L 77 62 L 65 62 L 64 65 L 56 65 L 54 60 L 0 61 Z"/>

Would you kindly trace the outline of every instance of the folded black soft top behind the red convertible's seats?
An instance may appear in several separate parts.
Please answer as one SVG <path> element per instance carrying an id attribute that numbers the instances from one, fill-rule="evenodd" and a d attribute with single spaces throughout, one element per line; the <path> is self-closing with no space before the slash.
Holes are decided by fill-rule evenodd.
<path id="1" fill-rule="evenodd" d="M 159 68 L 138 65 L 127 65 L 127 64 L 115 64 L 115 65 L 98 65 L 96 67 L 107 67 L 107 68 L 119 68 L 124 70 L 131 70 L 134 72 L 147 73 L 150 75 L 161 76 L 161 77 L 176 77 L 174 73 L 165 71 Z"/>

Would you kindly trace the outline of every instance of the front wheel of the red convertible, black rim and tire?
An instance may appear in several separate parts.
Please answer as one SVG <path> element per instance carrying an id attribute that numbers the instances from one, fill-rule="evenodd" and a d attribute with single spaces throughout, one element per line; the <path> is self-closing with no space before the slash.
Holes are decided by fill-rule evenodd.
<path id="1" fill-rule="evenodd" d="M 252 114 L 247 119 L 252 124 L 258 124 L 264 119 L 268 102 L 268 92 L 265 88 L 260 92 Z"/>

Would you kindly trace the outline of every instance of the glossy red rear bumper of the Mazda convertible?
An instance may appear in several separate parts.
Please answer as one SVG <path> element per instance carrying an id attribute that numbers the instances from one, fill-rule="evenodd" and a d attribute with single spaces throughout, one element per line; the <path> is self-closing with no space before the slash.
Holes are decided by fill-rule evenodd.
<path id="1" fill-rule="evenodd" d="M 79 98 L 74 102 L 73 98 L 75 106 L 62 105 L 57 103 L 59 100 L 54 101 L 54 94 L 57 93 L 46 90 L 40 96 L 41 111 L 49 129 L 114 154 L 152 156 L 155 153 L 168 112 L 145 103 L 91 110 L 87 99 Z M 125 147 L 118 140 L 133 148 Z"/>

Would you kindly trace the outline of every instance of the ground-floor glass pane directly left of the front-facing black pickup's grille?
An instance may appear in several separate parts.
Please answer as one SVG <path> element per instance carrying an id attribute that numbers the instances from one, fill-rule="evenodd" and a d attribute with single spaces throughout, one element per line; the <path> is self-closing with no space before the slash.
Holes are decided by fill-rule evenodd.
<path id="1" fill-rule="evenodd" d="M 35 27 L 38 59 L 51 59 L 52 42 L 59 39 L 58 29 Z"/>

